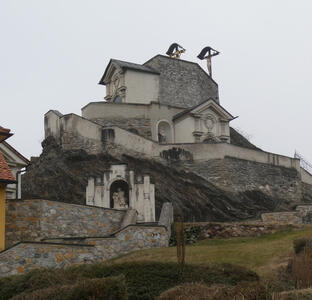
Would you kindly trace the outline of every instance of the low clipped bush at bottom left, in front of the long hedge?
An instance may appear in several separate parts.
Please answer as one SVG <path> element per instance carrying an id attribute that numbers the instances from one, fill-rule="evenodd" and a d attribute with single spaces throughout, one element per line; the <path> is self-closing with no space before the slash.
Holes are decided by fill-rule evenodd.
<path id="1" fill-rule="evenodd" d="M 74 285 L 53 286 L 22 293 L 12 300 L 126 300 L 127 289 L 123 276 L 86 279 Z"/>

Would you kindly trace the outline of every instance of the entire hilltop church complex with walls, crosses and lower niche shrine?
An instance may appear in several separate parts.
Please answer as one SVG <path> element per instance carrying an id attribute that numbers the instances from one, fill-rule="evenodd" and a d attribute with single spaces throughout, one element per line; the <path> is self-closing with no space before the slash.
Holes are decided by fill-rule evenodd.
<path id="1" fill-rule="evenodd" d="M 312 185 L 312 175 L 300 166 L 300 159 L 265 152 L 230 126 L 235 117 L 221 105 L 218 84 L 211 76 L 211 58 L 218 52 L 206 47 L 198 56 L 207 60 L 206 72 L 198 63 L 181 59 L 184 51 L 178 48 L 143 64 L 111 59 L 99 81 L 106 86 L 104 100 L 85 105 L 81 116 L 48 111 L 45 138 L 54 137 L 64 150 L 179 162 L 220 188 L 234 192 L 251 188 L 300 202 L 301 186 L 310 191 Z M 269 178 L 263 170 L 271 176 L 271 167 L 295 173 L 277 189 L 280 175 L 271 182 L 259 179 Z M 246 184 L 252 176 L 252 184 Z M 89 178 L 86 204 L 131 207 L 140 221 L 153 222 L 157 192 L 152 181 L 126 164 L 111 165 L 101 176 Z"/>

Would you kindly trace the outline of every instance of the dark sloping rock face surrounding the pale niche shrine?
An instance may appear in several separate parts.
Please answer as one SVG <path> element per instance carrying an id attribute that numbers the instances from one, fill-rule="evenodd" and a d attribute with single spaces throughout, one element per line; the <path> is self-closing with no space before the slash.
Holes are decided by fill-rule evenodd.
<path id="1" fill-rule="evenodd" d="M 181 166 L 125 154 L 117 157 L 107 153 L 88 155 L 83 150 L 64 151 L 52 137 L 43 142 L 41 156 L 23 176 L 23 198 L 85 204 L 88 177 L 101 176 L 110 164 L 121 162 L 127 163 L 135 172 L 150 175 L 155 184 L 156 219 L 164 202 L 172 202 L 176 215 L 183 209 L 186 221 L 244 220 L 294 206 L 294 203 L 283 203 L 277 195 L 271 196 L 259 189 L 242 191 L 218 187 Z"/>

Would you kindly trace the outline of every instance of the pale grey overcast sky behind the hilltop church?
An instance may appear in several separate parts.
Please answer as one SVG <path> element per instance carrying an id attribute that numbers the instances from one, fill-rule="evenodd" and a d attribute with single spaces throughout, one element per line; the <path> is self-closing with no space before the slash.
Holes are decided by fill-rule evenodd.
<path id="1" fill-rule="evenodd" d="M 172 42 L 204 46 L 233 127 L 262 149 L 312 161 L 311 0 L 2 0 L 0 125 L 26 157 L 41 153 L 49 109 L 101 101 L 110 58 L 144 63 Z"/>

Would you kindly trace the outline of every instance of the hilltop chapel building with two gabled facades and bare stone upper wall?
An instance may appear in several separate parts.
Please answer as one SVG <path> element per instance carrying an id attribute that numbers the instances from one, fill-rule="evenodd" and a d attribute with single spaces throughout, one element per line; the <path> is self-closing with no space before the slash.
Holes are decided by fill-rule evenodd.
<path id="1" fill-rule="evenodd" d="M 107 102 L 86 105 L 82 116 L 89 120 L 165 144 L 230 143 L 234 117 L 197 63 L 163 55 L 142 65 L 111 59 L 99 84 Z"/>

